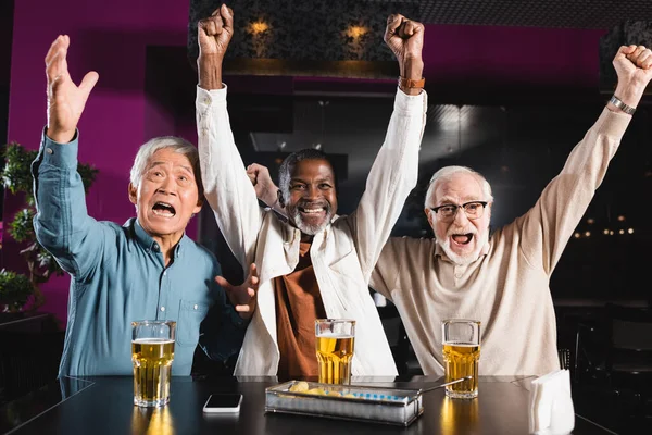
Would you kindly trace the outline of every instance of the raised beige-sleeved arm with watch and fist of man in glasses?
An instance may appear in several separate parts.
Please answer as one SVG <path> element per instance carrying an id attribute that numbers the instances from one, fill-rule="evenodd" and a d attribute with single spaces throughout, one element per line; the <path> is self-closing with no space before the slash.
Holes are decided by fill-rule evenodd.
<path id="1" fill-rule="evenodd" d="M 553 272 L 620 145 L 631 120 L 627 107 L 638 105 L 652 78 L 652 53 L 645 47 L 620 47 L 613 65 L 618 76 L 614 98 L 575 146 L 562 172 L 548 184 L 535 207 L 516 220 L 524 254 L 547 274 Z"/>

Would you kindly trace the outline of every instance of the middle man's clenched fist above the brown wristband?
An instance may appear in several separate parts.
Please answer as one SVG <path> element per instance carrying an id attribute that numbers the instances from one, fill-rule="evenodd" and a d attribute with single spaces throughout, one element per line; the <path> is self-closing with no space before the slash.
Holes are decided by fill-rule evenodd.
<path id="1" fill-rule="evenodd" d="M 421 79 L 424 69 L 424 25 L 401 14 L 389 15 L 384 39 L 399 61 L 401 77 Z"/>

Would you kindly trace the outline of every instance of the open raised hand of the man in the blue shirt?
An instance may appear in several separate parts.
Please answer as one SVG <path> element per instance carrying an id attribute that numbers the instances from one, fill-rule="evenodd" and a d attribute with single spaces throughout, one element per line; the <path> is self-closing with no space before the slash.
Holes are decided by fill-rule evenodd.
<path id="1" fill-rule="evenodd" d="M 67 144 L 75 137 L 75 129 L 90 91 L 98 83 L 95 71 L 87 73 L 77 87 L 68 73 L 66 54 L 71 44 L 67 35 L 59 35 L 46 55 L 48 77 L 48 130 L 50 139 Z"/>

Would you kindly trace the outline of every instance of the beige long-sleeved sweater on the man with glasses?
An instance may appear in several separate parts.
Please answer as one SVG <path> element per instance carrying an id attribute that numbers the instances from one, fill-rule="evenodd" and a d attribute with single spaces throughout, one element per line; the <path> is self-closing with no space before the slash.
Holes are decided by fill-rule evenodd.
<path id="1" fill-rule="evenodd" d="M 605 108 L 535 207 L 498 229 L 477 261 L 453 264 L 435 239 L 390 239 L 371 286 L 396 303 L 425 374 L 443 373 L 441 321 L 449 318 L 481 321 L 481 375 L 559 369 L 550 275 L 630 119 Z"/>

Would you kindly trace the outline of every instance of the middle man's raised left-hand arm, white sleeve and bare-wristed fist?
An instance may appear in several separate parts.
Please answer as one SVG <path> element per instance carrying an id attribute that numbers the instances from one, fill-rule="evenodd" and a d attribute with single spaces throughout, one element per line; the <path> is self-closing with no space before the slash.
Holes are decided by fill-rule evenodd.
<path id="1" fill-rule="evenodd" d="M 206 201 L 243 271 L 254 261 L 262 210 L 244 172 L 226 110 L 222 62 L 234 33 L 233 11 L 223 4 L 198 23 L 197 132 Z"/>

